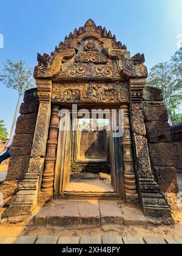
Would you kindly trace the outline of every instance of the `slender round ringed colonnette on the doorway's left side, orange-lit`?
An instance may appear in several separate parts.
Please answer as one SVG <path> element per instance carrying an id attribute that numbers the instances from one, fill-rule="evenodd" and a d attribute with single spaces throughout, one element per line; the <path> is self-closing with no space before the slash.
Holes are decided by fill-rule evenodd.
<path id="1" fill-rule="evenodd" d="M 45 157 L 45 167 L 42 177 L 41 191 L 47 193 L 48 197 L 53 195 L 53 180 L 59 131 L 59 110 L 59 105 L 53 105 L 50 121 L 49 140 L 47 141 L 47 154 Z"/>

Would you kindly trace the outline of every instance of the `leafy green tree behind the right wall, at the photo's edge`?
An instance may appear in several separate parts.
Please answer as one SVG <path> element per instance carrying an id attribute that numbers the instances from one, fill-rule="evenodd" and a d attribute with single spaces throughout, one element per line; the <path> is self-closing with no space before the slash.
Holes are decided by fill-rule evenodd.
<path id="1" fill-rule="evenodd" d="M 182 104 L 182 48 L 169 62 L 159 63 L 150 70 L 147 85 L 163 91 L 167 111 L 173 124 L 180 121 L 177 109 Z"/>

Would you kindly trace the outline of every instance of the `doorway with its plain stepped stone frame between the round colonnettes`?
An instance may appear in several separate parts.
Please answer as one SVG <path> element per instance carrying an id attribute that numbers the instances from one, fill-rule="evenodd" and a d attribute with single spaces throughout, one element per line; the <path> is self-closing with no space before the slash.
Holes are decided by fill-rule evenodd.
<path id="1" fill-rule="evenodd" d="M 121 138 L 114 136 L 110 110 L 101 115 L 73 118 L 70 111 L 61 114 L 56 197 L 120 197 L 124 201 L 123 163 L 118 152 Z"/>

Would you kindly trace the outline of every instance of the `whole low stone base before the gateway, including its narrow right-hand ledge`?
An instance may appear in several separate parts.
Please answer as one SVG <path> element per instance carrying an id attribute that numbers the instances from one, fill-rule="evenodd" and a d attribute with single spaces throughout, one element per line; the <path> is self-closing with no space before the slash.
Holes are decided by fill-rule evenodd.
<path id="1" fill-rule="evenodd" d="M 66 227 L 66 229 L 117 230 L 123 225 L 172 224 L 172 219 L 147 218 L 141 210 L 120 202 L 53 201 L 41 208 L 29 227 Z"/>

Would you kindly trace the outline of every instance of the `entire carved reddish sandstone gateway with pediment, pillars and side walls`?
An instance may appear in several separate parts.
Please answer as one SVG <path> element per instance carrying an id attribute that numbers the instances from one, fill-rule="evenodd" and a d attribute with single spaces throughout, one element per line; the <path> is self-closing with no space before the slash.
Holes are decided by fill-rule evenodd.
<path id="1" fill-rule="evenodd" d="M 38 54 L 37 88 L 25 92 L 0 187 L 4 199 L 13 197 L 4 219 L 23 221 L 50 199 L 116 201 L 146 216 L 171 217 L 178 186 L 168 116 L 161 90 L 146 85 L 144 61 L 92 20 L 50 55 Z M 61 110 L 72 117 L 73 104 L 89 113 L 123 110 L 123 136 L 60 130 L 69 123 Z"/>

